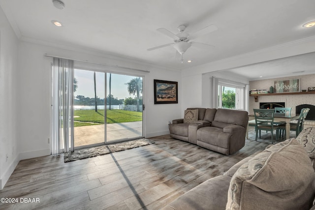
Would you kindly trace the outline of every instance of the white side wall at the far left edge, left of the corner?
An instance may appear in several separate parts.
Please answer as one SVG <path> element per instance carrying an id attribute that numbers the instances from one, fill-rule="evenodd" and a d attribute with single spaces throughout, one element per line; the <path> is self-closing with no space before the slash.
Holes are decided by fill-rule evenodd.
<path id="1" fill-rule="evenodd" d="M 0 189 L 19 161 L 18 45 L 0 7 Z"/>

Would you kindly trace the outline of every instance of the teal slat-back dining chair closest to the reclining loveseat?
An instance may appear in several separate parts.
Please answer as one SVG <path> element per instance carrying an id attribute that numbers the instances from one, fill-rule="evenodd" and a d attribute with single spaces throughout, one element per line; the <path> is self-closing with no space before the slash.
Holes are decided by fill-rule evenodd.
<path id="1" fill-rule="evenodd" d="M 254 109 L 255 116 L 255 132 L 256 137 L 255 141 L 258 138 L 261 138 L 261 130 L 271 131 L 271 142 L 274 143 L 273 133 L 276 130 L 276 140 L 279 139 L 279 124 L 274 123 L 274 109 Z"/>

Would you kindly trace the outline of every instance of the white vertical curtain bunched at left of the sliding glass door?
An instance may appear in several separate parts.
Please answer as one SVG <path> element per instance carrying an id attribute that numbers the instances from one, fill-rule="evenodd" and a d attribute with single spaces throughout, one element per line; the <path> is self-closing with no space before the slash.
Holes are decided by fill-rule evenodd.
<path id="1" fill-rule="evenodd" d="M 73 151 L 73 60 L 54 58 L 52 154 Z"/>

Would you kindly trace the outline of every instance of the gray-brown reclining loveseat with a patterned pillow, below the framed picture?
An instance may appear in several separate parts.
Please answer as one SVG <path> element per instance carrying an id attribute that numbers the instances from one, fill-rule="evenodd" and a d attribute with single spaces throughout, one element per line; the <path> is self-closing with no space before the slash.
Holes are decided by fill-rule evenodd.
<path id="1" fill-rule="evenodd" d="M 175 139 L 228 155 L 244 147 L 247 125 L 246 111 L 188 108 L 184 119 L 172 121 L 169 132 Z"/>

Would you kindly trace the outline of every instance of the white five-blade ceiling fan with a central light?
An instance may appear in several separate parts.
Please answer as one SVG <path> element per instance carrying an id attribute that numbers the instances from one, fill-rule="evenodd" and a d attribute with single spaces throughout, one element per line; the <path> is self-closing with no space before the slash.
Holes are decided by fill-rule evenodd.
<path id="1" fill-rule="evenodd" d="M 180 25 L 177 29 L 179 30 L 179 33 L 177 33 L 177 34 L 174 34 L 171 31 L 164 29 L 164 28 L 157 29 L 159 32 L 163 33 L 164 35 L 173 38 L 174 43 L 168 43 L 168 44 L 160 45 L 157 47 L 149 48 L 148 51 L 152 51 L 152 50 L 156 50 L 159 48 L 163 48 L 163 47 L 167 47 L 167 46 L 172 45 L 177 50 L 176 54 L 179 53 L 182 56 L 181 61 L 183 62 L 184 61 L 183 60 L 183 54 L 191 46 L 200 47 L 200 48 L 214 47 L 214 46 L 209 45 L 209 44 L 194 42 L 194 41 L 190 41 L 190 40 L 193 40 L 199 36 L 203 36 L 205 34 L 208 34 L 212 31 L 218 30 L 218 28 L 215 25 L 207 26 L 207 27 L 205 27 L 201 30 L 198 30 L 192 34 L 185 32 L 185 30 L 186 30 L 185 25 Z"/>

